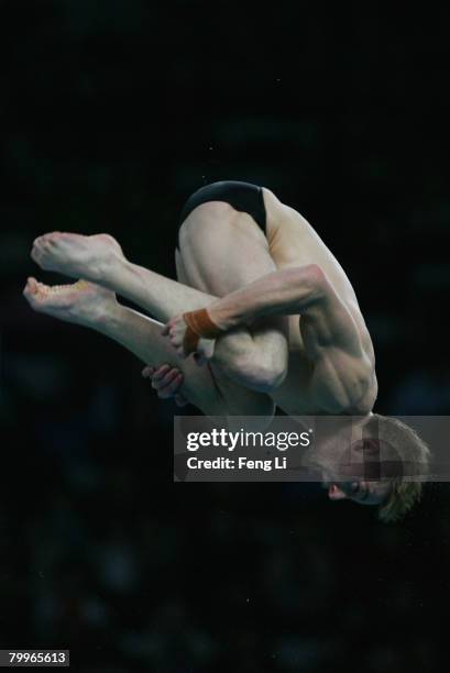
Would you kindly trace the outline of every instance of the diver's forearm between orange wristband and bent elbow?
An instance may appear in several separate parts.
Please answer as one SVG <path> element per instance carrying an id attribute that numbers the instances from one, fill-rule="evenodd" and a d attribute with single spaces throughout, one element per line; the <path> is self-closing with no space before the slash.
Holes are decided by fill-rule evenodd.
<path id="1" fill-rule="evenodd" d="M 300 313 L 323 294 L 323 276 L 316 265 L 267 274 L 208 307 L 211 320 L 221 329 L 250 324 L 265 316 Z"/>

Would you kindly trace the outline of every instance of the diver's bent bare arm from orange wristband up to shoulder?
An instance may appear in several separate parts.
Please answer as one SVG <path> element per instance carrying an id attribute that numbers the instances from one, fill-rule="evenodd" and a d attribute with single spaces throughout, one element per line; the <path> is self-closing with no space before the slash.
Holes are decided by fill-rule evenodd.
<path id="1" fill-rule="evenodd" d="M 215 301 L 208 312 L 221 329 L 261 316 L 300 316 L 305 353 L 315 363 L 308 385 L 311 404 L 330 413 L 358 404 L 362 409 L 361 400 L 372 389 L 371 408 L 376 378 L 369 332 L 354 298 L 341 299 L 317 265 L 268 274 Z"/>

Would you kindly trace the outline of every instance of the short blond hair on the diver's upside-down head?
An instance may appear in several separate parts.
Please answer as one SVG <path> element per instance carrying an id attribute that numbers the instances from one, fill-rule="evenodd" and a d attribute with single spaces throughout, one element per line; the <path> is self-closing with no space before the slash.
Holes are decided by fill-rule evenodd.
<path id="1" fill-rule="evenodd" d="M 366 423 L 369 432 L 371 428 L 394 449 L 404 466 L 403 474 L 391 481 L 392 490 L 378 508 L 378 519 L 393 523 L 420 501 L 429 473 L 430 450 L 413 428 L 397 418 L 374 413 Z"/>

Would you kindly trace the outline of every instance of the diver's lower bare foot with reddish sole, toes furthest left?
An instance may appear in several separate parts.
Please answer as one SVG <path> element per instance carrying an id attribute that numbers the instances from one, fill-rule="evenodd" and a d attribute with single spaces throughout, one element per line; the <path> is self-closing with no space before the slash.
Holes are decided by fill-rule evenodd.
<path id="1" fill-rule="evenodd" d="M 50 287 L 29 278 L 23 295 L 35 311 L 87 327 L 101 322 L 118 305 L 114 293 L 87 280 Z"/>

